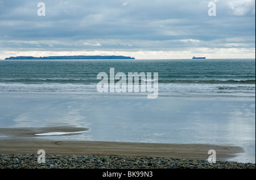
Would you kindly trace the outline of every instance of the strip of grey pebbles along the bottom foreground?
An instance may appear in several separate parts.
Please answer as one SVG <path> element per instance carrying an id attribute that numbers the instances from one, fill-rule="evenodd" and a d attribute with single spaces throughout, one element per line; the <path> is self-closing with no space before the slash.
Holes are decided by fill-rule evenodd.
<path id="1" fill-rule="evenodd" d="M 38 155 L 0 154 L 0 169 L 255 169 L 253 163 L 222 162 L 164 157 L 46 155 L 46 163 Z"/>

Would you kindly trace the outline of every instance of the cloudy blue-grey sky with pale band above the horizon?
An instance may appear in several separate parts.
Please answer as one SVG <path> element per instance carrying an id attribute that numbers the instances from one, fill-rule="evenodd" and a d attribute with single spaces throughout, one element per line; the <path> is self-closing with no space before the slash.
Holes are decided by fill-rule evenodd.
<path id="1" fill-rule="evenodd" d="M 255 58 L 255 0 L 0 0 L 0 59 L 19 55 Z"/>

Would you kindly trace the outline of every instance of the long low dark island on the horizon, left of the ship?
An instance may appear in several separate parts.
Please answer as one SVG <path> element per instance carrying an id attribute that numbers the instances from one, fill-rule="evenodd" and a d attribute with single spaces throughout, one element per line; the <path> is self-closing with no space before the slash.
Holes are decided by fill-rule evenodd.
<path id="1" fill-rule="evenodd" d="M 5 58 L 8 59 L 135 59 L 123 55 L 64 55 L 64 56 L 48 56 L 48 57 L 32 57 L 32 56 L 17 56 Z"/>

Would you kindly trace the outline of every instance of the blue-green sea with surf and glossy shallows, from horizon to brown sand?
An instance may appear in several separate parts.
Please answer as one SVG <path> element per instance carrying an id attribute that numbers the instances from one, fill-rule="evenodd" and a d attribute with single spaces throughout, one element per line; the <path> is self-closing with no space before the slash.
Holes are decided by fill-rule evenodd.
<path id="1" fill-rule="evenodd" d="M 255 59 L 1 60 L 0 128 L 60 126 L 89 130 L 35 138 L 235 145 L 255 163 Z"/>

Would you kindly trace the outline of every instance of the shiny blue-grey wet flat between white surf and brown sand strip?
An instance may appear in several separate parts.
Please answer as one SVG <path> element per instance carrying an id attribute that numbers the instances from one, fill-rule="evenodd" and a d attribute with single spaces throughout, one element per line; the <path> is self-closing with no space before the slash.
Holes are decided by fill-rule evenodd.
<path id="1" fill-rule="evenodd" d="M 253 101 L 92 100 L 35 95 L 32 98 L 23 95 L 1 99 L 2 125 L 7 126 L 0 128 L 1 142 L 21 138 L 22 142 L 32 139 L 32 142 L 214 144 L 243 149 L 237 152 L 237 156 L 230 156 L 230 161 L 255 163 Z M 16 149 L 16 153 L 33 153 L 19 152 L 22 148 L 11 144 L 13 148 L 8 144 L 2 144 L 1 148 Z M 44 146 L 36 147 L 34 153 L 38 149 L 44 149 Z M 208 147 L 204 149 L 203 159 L 209 157 L 210 149 L 217 152 L 217 149 Z M 46 153 L 52 151 L 44 150 Z M 67 150 L 60 148 L 58 152 L 61 154 Z M 195 152 L 200 151 L 196 149 Z M 226 158 L 221 156 L 217 158 L 225 161 Z"/>

